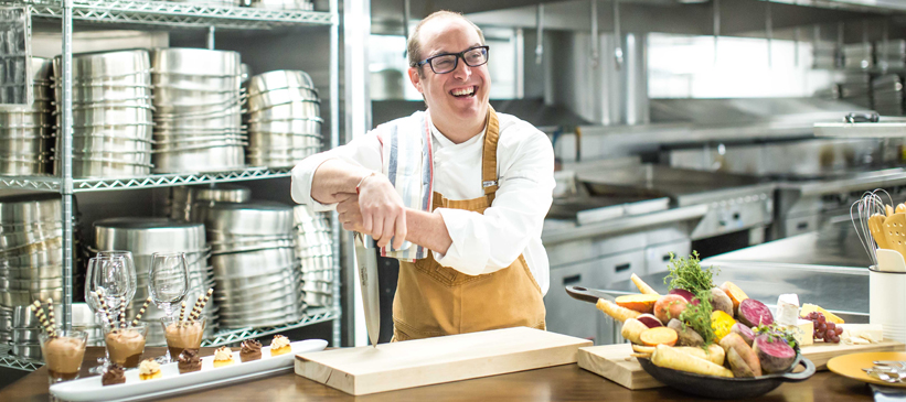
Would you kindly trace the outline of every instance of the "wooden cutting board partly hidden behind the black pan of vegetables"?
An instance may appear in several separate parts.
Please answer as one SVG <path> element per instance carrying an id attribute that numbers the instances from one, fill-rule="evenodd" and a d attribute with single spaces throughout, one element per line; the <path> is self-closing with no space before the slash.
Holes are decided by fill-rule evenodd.
<path id="1" fill-rule="evenodd" d="M 833 357 L 865 351 L 904 351 L 906 345 L 895 340 L 884 340 L 871 345 L 814 344 L 802 347 L 802 356 L 814 363 L 816 369 L 827 370 L 828 360 Z M 579 367 L 601 376 L 630 390 L 665 387 L 649 376 L 636 358 L 630 357 L 629 344 L 593 346 L 579 349 Z"/>

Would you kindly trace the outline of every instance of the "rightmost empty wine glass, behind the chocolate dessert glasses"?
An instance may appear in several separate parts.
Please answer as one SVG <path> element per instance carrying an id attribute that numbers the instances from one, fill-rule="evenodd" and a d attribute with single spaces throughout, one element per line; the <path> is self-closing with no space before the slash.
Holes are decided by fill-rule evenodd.
<path id="1" fill-rule="evenodd" d="M 173 316 L 173 305 L 185 298 L 189 291 L 189 265 L 185 253 L 151 254 L 151 272 L 148 278 L 148 294 L 158 308 L 163 309 L 164 317 Z M 170 350 L 161 361 L 170 361 Z"/>

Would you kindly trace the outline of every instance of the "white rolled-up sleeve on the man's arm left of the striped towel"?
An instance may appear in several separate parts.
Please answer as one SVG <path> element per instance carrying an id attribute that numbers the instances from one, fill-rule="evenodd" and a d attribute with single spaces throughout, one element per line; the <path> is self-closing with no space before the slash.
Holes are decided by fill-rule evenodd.
<path id="1" fill-rule="evenodd" d="M 310 213 L 337 208 L 337 204 L 321 204 L 315 198 L 311 198 L 315 171 L 317 171 L 322 163 L 331 159 L 340 159 L 347 163 L 380 173 L 381 142 L 377 140 L 376 133 L 372 131 L 350 141 L 345 145 L 308 156 L 299 162 L 296 167 L 292 167 L 290 174 L 292 181 L 290 185 L 292 200 L 308 207 Z"/>

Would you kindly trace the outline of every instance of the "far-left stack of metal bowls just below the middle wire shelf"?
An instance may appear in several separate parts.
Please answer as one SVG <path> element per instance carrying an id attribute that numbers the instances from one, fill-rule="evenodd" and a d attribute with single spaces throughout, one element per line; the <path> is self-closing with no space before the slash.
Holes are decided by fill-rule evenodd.
<path id="1" fill-rule="evenodd" d="M 62 216 L 58 194 L 0 197 L 0 305 L 62 300 Z"/>

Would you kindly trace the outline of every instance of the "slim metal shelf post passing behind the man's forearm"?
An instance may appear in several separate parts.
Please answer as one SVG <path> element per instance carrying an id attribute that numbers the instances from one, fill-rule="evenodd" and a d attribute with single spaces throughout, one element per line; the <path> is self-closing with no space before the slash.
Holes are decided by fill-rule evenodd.
<path id="1" fill-rule="evenodd" d="M 338 0 L 330 0 L 330 13 L 333 23 L 330 24 L 330 148 L 340 145 L 340 18 Z M 340 309 L 340 218 L 337 211 L 330 214 L 330 231 L 333 247 L 333 347 L 340 347 L 341 309 Z"/>

